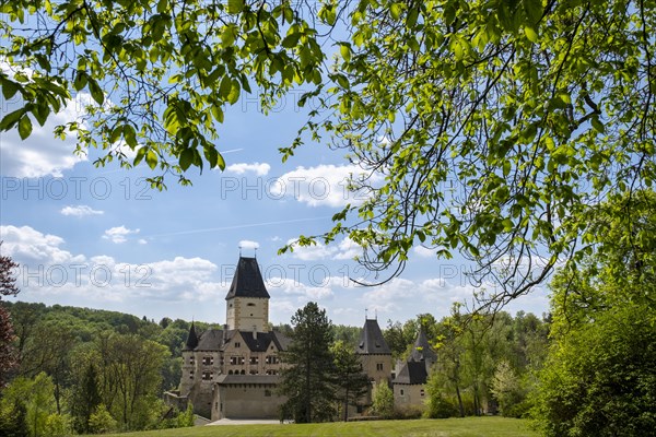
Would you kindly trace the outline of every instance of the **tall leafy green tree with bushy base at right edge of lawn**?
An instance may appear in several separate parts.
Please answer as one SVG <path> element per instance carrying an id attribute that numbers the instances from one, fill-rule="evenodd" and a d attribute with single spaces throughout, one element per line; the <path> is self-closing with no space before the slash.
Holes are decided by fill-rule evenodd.
<path id="1" fill-rule="evenodd" d="M 655 211 L 652 191 L 599 205 L 594 250 L 551 284 L 553 344 L 536 406 L 547 436 L 653 434 Z"/>

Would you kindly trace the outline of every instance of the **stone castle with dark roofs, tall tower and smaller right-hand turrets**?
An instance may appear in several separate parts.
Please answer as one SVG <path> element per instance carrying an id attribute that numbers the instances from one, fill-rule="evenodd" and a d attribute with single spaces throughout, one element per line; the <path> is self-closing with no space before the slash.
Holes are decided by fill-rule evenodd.
<path id="1" fill-rule="evenodd" d="M 284 366 L 279 354 L 286 350 L 290 339 L 270 330 L 269 299 L 257 259 L 239 257 L 225 296 L 226 323 L 221 330 L 201 333 L 191 323 L 183 350 L 179 390 L 165 394 L 169 404 L 184 409 L 191 402 L 196 414 L 212 421 L 279 417 L 285 401 L 276 390 Z M 408 363 L 397 364 L 396 378 L 391 351 L 377 320 L 365 320 L 355 352 L 372 387 L 394 386 L 395 405 L 423 403 L 427 367 L 434 363 L 434 352 L 423 332 Z M 368 403 L 371 390 L 363 399 L 363 404 Z"/>

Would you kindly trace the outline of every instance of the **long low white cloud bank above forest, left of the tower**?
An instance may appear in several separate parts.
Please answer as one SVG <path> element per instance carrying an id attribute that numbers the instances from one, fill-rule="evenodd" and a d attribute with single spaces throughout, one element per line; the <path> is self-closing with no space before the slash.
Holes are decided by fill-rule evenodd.
<path id="1" fill-rule="evenodd" d="M 65 240 L 30 226 L 0 226 L 2 255 L 20 263 L 21 298 L 77 306 L 98 303 L 220 302 L 227 284 L 216 279 L 218 267 L 202 258 L 176 257 L 141 264 L 106 255 L 85 257 L 61 248 Z M 141 299 L 141 300 L 139 300 Z M 151 304 L 149 304 L 151 303 Z"/>

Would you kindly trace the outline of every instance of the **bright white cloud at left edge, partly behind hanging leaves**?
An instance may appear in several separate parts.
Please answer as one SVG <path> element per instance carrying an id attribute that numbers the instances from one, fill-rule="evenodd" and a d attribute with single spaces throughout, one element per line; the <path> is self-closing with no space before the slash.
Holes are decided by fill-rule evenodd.
<path id="1" fill-rule="evenodd" d="M 81 122 L 84 107 L 90 102 L 91 96 L 87 93 L 79 93 L 75 98 L 68 101 L 59 113 L 50 115 L 43 127 L 32 118 L 32 134 L 25 140 L 21 140 L 17 129 L 0 133 L 0 173 L 10 177 L 62 177 L 62 172 L 86 161 L 85 155 L 73 154 L 78 140 L 74 132 L 69 132 L 66 140 L 58 140 L 52 131 L 60 125 Z M 5 105 L 10 111 L 22 106 L 12 105 L 12 102 Z"/>

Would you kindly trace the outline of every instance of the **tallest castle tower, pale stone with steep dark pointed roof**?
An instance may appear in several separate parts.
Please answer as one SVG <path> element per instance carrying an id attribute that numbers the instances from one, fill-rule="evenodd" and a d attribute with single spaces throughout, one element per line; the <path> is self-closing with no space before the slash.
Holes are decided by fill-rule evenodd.
<path id="1" fill-rule="evenodd" d="M 225 296 L 227 329 L 268 332 L 269 298 L 257 259 L 239 257 L 237 271 Z"/>

